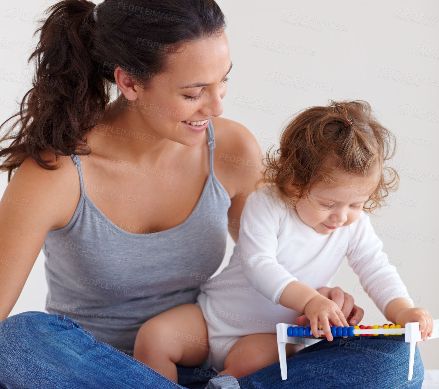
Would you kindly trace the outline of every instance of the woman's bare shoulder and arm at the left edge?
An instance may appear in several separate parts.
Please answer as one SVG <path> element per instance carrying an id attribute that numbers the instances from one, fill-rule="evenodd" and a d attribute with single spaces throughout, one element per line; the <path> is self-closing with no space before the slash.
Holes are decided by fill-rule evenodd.
<path id="1" fill-rule="evenodd" d="M 27 158 L 0 201 L 0 321 L 14 308 L 47 232 L 67 224 L 75 212 L 79 193 L 72 192 L 72 180 L 78 173 L 65 158 L 71 166 L 54 171 Z"/>

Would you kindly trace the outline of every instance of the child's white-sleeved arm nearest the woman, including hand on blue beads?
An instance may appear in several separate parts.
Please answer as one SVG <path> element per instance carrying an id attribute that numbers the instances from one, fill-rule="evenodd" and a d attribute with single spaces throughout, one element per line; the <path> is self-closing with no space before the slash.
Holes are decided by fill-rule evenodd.
<path id="1" fill-rule="evenodd" d="M 316 337 L 320 320 L 325 335 L 332 340 L 328 321 L 336 326 L 347 326 L 345 317 L 337 303 L 292 276 L 285 268 L 289 263 L 277 261 L 277 238 L 286 211 L 273 204 L 273 199 L 266 196 L 267 192 L 269 190 L 265 188 L 248 197 L 241 214 L 239 239 L 230 262 L 242 261 L 247 280 L 271 302 L 304 312 Z"/>

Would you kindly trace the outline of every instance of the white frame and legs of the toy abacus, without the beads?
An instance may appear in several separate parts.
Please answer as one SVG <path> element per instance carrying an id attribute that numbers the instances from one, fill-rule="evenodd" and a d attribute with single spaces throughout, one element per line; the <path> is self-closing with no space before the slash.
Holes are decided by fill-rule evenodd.
<path id="1" fill-rule="evenodd" d="M 281 365 L 282 379 L 287 379 L 287 356 L 285 347 L 287 343 L 309 346 L 316 342 L 320 342 L 322 338 L 300 338 L 288 336 L 288 327 L 298 327 L 295 324 L 279 323 L 276 326 L 277 332 L 277 350 L 279 351 L 279 363 Z M 419 331 L 419 323 L 406 323 L 405 328 L 373 328 L 365 330 L 354 330 L 354 335 L 365 335 L 373 332 L 374 334 L 405 334 L 405 342 L 410 343 L 409 356 L 409 381 L 413 377 L 414 351 L 416 342 L 421 341 L 421 331 Z M 323 330 L 319 330 L 319 334 L 324 335 Z M 439 319 L 433 320 L 433 333 L 428 339 L 439 338 Z M 325 338 L 323 338 L 325 339 Z"/>

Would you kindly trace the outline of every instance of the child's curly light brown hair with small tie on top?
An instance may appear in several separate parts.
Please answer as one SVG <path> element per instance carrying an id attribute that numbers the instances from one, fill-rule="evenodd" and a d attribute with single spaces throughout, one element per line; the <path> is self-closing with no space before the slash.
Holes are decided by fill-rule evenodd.
<path id="1" fill-rule="evenodd" d="M 353 124 L 345 127 L 348 119 Z M 378 123 L 363 100 L 329 100 L 326 107 L 303 110 L 287 124 L 279 149 L 270 155 L 273 147 L 266 153 L 264 177 L 259 182 L 272 190 L 272 185 L 277 187 L 277 197 L 287 206 L 295 207 L 321 182 L 339 185 L 334 179 L 337 170 L 366 178 L 378 167 L 381 177 L 364 204 L 367 212 L 385 205 L 389 191 L 399 186 L 395 169 L 384 164 L 395 155 L 396 138 Z"/>

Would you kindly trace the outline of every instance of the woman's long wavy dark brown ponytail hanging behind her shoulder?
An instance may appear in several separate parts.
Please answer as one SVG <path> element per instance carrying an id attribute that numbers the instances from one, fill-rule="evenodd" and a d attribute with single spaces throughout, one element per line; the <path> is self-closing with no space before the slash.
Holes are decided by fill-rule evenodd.
<path id="1" fill-rule="evenodd" d="M 108 87 L 90 58 L 93 39 L 94 4 L 86 0 L 63 0 L 51 6 L 49 17 L 36 30 L 40 41 L 30 55 L 35 58 L 36 74 L 32 88 L 20 105 L 20 115 L 0 142 L 14 139 L 0 157 L 9 154 L 0 169 L 11 171 L 31 156 L 40 166 L 54 170 L 41 151 L 58 155 L 90 153 L 83 142 L 91 123 L 101 119 L 109 101 Z M 8 121 L 6 120 L 1 126 Z M 8 136 L 21 124 L 18 135 Z"/>

